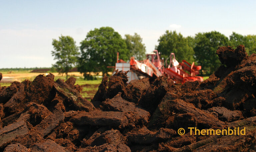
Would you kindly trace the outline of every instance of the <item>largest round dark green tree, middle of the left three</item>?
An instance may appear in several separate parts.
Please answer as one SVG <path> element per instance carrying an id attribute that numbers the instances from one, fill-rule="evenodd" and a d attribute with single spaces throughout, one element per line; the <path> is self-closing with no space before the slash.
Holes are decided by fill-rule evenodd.
<path id="1" fill-rule="evenodd" d="M 87 33 L 81 43 L 81 58 L 79 59 L 79 72 L 102 72 L 107 74 L 114 66 L 117 52 L 119 59 L 128 60 L 129 51 L 125 41 L 111 27 L 95 28 Z"/>

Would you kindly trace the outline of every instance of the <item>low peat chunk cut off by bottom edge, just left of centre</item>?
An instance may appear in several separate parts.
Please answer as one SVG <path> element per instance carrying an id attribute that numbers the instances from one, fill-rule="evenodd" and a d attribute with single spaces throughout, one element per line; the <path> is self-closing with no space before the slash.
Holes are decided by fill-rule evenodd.
<path id="1" fill-rule="evenodd" d="M 77 152 L 131 152 L 131 149 L 125 144 L 103 144 L 97 147 L 81 148 Z"/>

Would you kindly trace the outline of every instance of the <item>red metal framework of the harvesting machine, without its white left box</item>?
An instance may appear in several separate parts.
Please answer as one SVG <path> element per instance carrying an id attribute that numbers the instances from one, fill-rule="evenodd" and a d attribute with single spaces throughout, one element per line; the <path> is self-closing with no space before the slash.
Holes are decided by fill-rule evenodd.
<path id="1" fill-rule="evenodd" d="M 151 61 L 148 59 L 148 57 L 151 56 Z M 155 57 L 157 57 L 157 59 L 155 59 Z M 123 60 L 119 60 L 119 53 L 117 53 L 117 63 L 125 63 Z M 189 64 L 187 61 L 182 60 L 182 63 L 179 63 L 176 61 L 176 59 L 174 61 L 176 61 L 176 65 L 174 66 L 174 63 L 172 63 L 172 59 L 175 59 L 175 54 L 171 53 L 170 54 L 170 64 L 164 68 L 164 61 L 160 60 L 159 57 L 159 53 L 157 50 L 154 50 L 154 54 L 147 54 L 147 59 L 143 60 L 143 61 L 137 61 L 134 59 L 134 57 L 131 57 L 130 60 L 130 70 L 131 71 L 137 71 L 139 73 L 142 73 L 144 75 L 147 75 L 149 77 L 151 76 L 162 76 L 165 75 L 167 76 L 169 79 L 172 79 L 173 81 L 175 81 L 176 83 L 185 83 L 186 81 L 203 81 L 203 77 L 201 76 L 196 76 L 197 74 L 199 74 L 199 70 L 201 70 L 201 66 L 195 66 L 194 62 L 192 64 Z M 138 65 L 138 64 L 139 65 Z M 167 64 L 167 60 L 166 60 L 166 64 Z M 172 67 L 171 67 L 172 64 Z M 145 66 L 146 69 L 148 69 L 148 71 L 143 72 L 141 69 L 142 66 Z M 140 67 L 141 66 L 141 67 Z M 124 69 L 124 67 L 122 68 Z M 153 75 L 150 74 L 150 69 L 152 69 Z M 186 73 L 185 71 L 188 71 L 190 74 Z"/>

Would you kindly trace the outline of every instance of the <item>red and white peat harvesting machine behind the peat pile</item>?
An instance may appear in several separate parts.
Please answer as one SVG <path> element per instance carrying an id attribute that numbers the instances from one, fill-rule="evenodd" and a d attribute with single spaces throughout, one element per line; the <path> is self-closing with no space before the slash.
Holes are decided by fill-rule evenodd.
<path id="1" fill-rule="evenodd" d="M 167 60 L 170 59 L 169 65 L 167 65 Z M 164 66 L 165 65 L 165 66 Z M 144 77 L 159 77 L 167 76 L 168 79 L 172 80 L 175 83 L 185 83 L 186 81 L 203 81 L 203 77 L 196 76 L 201 70 L 201 66 L 195 66 L 194 62 L 189 64 L 187 61 L 182 60 L 182 63 L 179 63 L 175 59 L 174 53 L 171 53 L 170 57 L 166 59 L 165 64 L 164 60 L 161 60 L 157 50 L 154 50 L 152 53 L 147 54 L 147 59 L 143 61 L 137 61 L 134 57 L 131 57 L 129 63 L 126 63 L 123 60 L 118 59 L 117 53 L 117 63 L 115 71 L 127 72 L 129 81 L 134 79 L 142 79 Z"/>

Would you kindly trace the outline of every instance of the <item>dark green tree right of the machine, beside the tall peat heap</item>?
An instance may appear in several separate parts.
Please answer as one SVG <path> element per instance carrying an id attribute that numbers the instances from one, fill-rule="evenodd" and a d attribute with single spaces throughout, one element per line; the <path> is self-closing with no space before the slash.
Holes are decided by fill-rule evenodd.
<path id="1" fill-rule="evenodd" d="M 228 46 L 228 38 L 216 31 L 198 33 L 195 36 L 195 57 L 206 74 L 211 74 L 220 66 L 216 50 L 221 46 Z"/>

